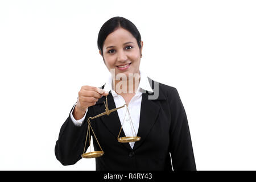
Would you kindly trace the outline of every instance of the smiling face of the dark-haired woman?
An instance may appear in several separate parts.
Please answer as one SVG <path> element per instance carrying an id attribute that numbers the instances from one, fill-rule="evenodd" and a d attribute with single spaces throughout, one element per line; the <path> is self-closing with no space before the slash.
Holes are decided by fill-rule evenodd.
<path id="1" fill-rule="evenodd" d="M 128 77 L 129 73 L 139 73 L 142 47 L 142 41 L 139 48 L 137 40 L 129 31 L 118 28 L 105 39 L 102 48 L 104 63 L 109 71 L 114 69 L 115 75 L 125 73 Z"/>

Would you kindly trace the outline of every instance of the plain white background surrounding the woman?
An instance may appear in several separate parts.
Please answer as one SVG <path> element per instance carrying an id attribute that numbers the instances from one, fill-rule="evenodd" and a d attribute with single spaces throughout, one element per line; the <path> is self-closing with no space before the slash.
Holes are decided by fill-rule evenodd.
<path id="1" fill-rule="evenodd" d="M 103 23 L 123 16 L 144 42 L 141 70 L 174 86 L 198 170 L 255 170 L 255 1 L 0 1 L 0 169 L 62 166 L 54 148 L 82 85 L 109 72 Z M 96 72 L 97 71 L 97 72 Z"/>

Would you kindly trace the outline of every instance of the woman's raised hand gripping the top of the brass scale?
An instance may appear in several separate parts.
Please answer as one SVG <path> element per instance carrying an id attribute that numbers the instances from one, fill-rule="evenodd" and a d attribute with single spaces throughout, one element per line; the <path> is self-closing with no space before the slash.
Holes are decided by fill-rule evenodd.
<path id="1" fill-rule="evenodd" d="M 79 98 L 77 100 L 77 104 L 73 111 L 73 117 L 76 120 L 81 119 L 84 117 L 84 114 L 88 107 L 93 106 L 96 104 L 101 96 L 108 96 L 108 92 L 97 88 L 95 86 L 82 86 L 79 91 Z"/>

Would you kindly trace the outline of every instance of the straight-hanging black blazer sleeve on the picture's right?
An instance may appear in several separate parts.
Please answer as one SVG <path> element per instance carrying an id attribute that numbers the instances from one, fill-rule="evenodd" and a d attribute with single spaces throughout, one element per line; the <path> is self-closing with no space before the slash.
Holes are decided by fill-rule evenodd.
<path id="1" fill-rule="evenodd" d="M 177 89 L 168 96 L 171 109 L 170 153 L 174 171 L 196 171 L 187 115 Z"/>

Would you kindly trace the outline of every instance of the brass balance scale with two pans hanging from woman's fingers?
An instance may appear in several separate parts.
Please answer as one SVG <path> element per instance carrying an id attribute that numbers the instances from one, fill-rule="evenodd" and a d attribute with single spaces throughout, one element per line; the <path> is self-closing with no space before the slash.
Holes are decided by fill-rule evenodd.
<path id="1" fill-rule="evenodd" d="M 116 110 L 121 109 L 122 107 L 126 106 L 126 113 L 128 112 L 130 124 L 131 124 L 131 126 L 133 127 L 133 130 L 134 130 L 133 122 L 131 121 L 131 115 L 130 115 L 130 112 L 129 112 L 127 104 L 125 104 L 125 105 L 123 105 L 121 107 L 117 107 L 117 108 L 109 110 L 107 96 L 106 96 L 106 102 L 105 101 L 103 101 L 103 102 L 104 102 L 104 105 L 106 107 L 105 112 L 101 113 L 101 114 L 98 114 L 98 115 L 96 115 L 94 117 L 89 117 L 88 120 L 87 120 L 87 122 L 88 122 L 88 129 L 87 129 L 87 133 L 86 133 L 84 152 L 81 155 L 82 158 L 98 158 L 98 157 L 100 157 L 100 156 L 102 156 L 104 154 L 104 151 L 102 150 L 102 148 L 100 146 L 100 143 L 98 142 L 98 139 L 97 139 L 96 135 L 94 134 L 92 126 L 90 125 L 90 120 L 95 119 L 97 117 L 101 117 L 102 115 L 105 115 L 105 114 L 109 115 L 113 111 L 116 111 Z M 126 113 L 125 113 L 125 116 L 126 116 Z M 123 121 L 125 121 L 125 117 L 124 117 Z M 120 129 L 118 137 L 117 137 L 118 142 L 120 142 L 120 143 L 128 143 L 128 142 L 137 142 L 137 141 L 141 140 L 141 137 L 137 137 L 137 134 L 136 134 L 135 130 L 134 130 L 135 137 L 119 137 L 120 133 L 121 133 L 121 130 L 122 130 L 122 126 L 123 126 L 123 122 L 122 122 L 121 129 Z M 88 134 L 89 134 L 89 148 L 90 148 L 90 130 L 92 130 L 93 135 L 94 135 L 94 137 L 95 137 L 95 139 L 96 139 L 96 141 L 98 143 L 98 146 L 100 146 L 101 150 L 100 151 L 93 151 L 93 152 L 90 151 L 90 152 L 86 152 L 85 153 L 85 146 L 86 146 Z"/>

